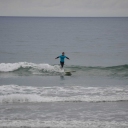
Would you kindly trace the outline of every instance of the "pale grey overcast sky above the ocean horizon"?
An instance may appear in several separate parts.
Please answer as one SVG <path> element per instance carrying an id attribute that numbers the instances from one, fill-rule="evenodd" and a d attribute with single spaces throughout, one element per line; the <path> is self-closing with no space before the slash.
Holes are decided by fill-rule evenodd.
<path id="1" fill-rule="evenodd" d="M 128 0 L 0 0 L 0 16 L 127 17 Z"/>

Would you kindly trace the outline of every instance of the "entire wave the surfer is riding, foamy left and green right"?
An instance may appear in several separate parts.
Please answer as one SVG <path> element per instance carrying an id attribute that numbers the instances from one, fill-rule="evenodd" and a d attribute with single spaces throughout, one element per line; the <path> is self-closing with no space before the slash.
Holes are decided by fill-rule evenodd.
<path id="1" fill-rule="evenodd" d="M 100 75 L 128 78 L 128 64 L 111 67 L 89 66 L 65 66 L 65 70 L 75 71 L 80 75 Z M 0 63 L 0 75 L 2 73 L 14 73 L 17 75 L 59 75 L 64 72 L 59 65 L 35 64 L 28 62 Z"/>

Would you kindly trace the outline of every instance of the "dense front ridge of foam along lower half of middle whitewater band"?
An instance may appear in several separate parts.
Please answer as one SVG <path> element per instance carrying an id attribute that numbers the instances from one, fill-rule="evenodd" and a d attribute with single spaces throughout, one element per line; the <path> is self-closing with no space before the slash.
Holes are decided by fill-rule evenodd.
<path id="1" fill-rule="evenodd" d="M 11 94 L 0 96 L 1 103 L 42 103 L 42 102 L 122 102 L 128 101 L 124 96 L 39 96 L 31 94 Z"/>

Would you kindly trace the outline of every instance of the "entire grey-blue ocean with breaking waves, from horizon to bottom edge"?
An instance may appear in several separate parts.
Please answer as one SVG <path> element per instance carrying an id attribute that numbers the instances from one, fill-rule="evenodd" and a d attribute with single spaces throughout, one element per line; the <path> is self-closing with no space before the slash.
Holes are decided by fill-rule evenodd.
<path id="1" fill-rule="evenodd" d="M 0 128 L 14 127 L 127 128 L 128 18 L 0 17 Z"/>

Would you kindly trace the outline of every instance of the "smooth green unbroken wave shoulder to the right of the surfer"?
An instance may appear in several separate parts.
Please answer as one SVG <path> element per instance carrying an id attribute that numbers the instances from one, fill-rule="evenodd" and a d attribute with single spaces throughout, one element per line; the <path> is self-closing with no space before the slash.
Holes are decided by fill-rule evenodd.
<path id="1" fill-rule="evenodd" d="M 110 76 L 110 77 L 128 77 L 128 65 L 118 65 L 110 67 L 102 66 L 69 66 L 72 70 L 76 70 L 85 75 L 94 75 L 94 76 Z"/>

